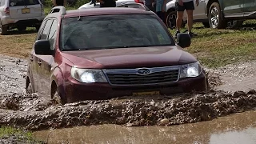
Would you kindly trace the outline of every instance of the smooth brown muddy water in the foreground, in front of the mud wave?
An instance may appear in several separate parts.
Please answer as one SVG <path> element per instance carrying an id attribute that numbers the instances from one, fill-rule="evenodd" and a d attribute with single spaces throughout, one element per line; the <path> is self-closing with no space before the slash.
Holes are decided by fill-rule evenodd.
<path id="1" fill-rule="evenodd" d="M 252 144 L 256 143 L 256 111 L 178 126 L 80 126 L 42 130 L 34 136 L 49 143 Z"/>

